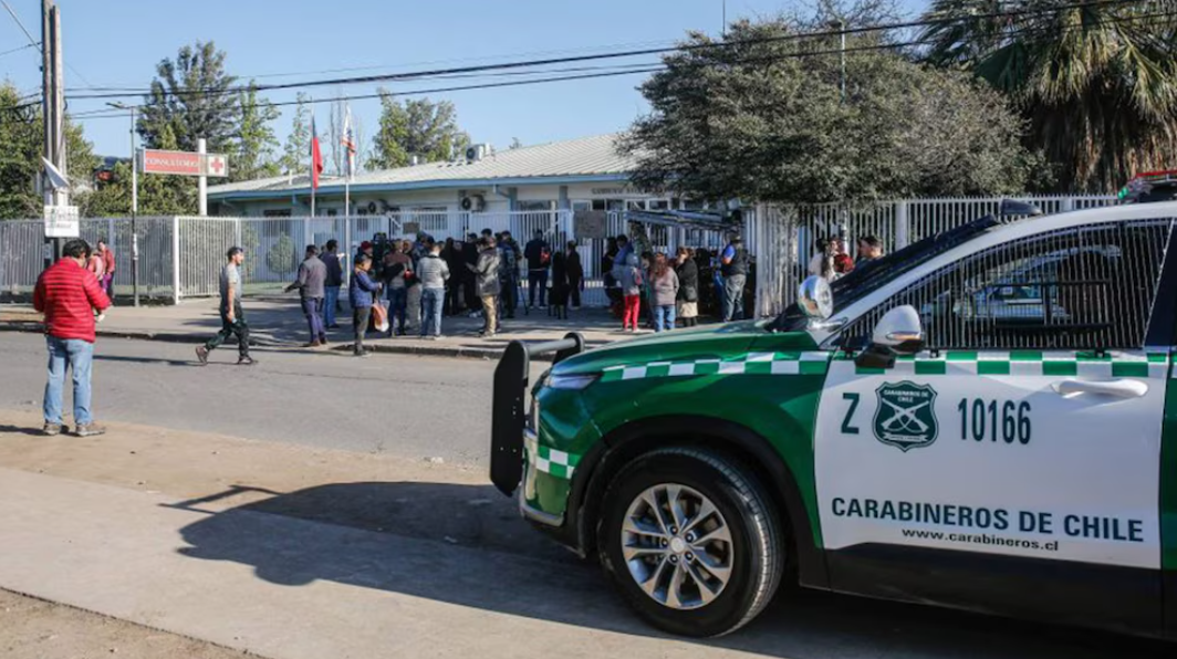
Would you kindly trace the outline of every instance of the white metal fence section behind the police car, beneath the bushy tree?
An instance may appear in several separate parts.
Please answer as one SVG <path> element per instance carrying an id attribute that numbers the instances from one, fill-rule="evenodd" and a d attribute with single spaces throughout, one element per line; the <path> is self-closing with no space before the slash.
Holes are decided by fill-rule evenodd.
<path id="1" fill-rule="evenodd" d="M 850 206 L 760 205 L 752 222 L 757 247 L 757 313 L 776 315 L 796 298 L 806 277 L 818 239 L 845 233 L 847 248 L 856 255 L 856 241 L 875 235 L 885 252 L 893 252 L 930 235 L 958 227 L 986 214 L 997 213 L 1004 198 L 910 199 Z M 1028 197 L 1046 214 L 1095 208 L 1116 202 L 1115 197 Z"/>

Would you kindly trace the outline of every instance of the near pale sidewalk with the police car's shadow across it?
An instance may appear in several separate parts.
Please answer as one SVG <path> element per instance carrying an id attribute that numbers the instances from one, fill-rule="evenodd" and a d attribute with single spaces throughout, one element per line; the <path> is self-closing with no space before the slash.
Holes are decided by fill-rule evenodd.
<path id="1" fill-rule="evenodd" d="M 36 421 L 0 411 L 0 588 L 274 659 L 756 646 L 653 632 L 480 470 L 127 424 L 44 438 Z"/>

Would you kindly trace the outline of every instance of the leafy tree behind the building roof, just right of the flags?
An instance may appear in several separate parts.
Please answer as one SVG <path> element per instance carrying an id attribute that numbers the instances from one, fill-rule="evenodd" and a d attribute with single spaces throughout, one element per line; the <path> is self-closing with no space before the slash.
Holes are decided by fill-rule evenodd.
<path id="1" fill-rule="evenodd" d="M 458 127 L 452 102 L 413 99 L 401 104 L 381 91 L 380 128 L 373 142 L 367 166 L 390 169 L 408 165 L 412 155 L 427 162 L 450 160 L 470 146 L 470 135 Z"/>

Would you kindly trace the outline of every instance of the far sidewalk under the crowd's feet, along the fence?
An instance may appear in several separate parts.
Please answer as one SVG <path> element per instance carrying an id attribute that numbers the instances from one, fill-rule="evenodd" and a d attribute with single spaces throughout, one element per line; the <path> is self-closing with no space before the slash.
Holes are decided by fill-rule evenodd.
<path id="1" fill-rule="evenodd" d="M 106 338 L 204 342 L 220 330 L 217 306 L 215 299 L 193 299 L 178 306 L 118 306 L 107 312 L 98 331 Z M 306 344 L 306 319 L 295 293 L 246 298 L 244 307 L 253 344 L 267 347 Z M 351 311 L 346 304 L 344 309 L 338 315 L 339 330 L 328 331 L 327 335 L 331 347 L 340 351 L 348 350 L 352 342 Z M 365 345 L 374 352 L 498 359 L 513 340 L 548 341 L 580 332 L 588 346 L 600 346 L 626 337 L 619 331 L 620 321 L 604 308 L 570 309 L 567 320 L 547 313 L 536 308 L 526 313 L 520 308 L 514 319 L 504 319 L 500 333 L 490 340 L 478 337 L 483 327 L 480 318 L 463 314 L 441 319 L 443 339 L 437 341 L 368 334 Z M 0 306 L 0 331 L 39 331 L 39 321 L 40 314 L 29 305 Z"/>

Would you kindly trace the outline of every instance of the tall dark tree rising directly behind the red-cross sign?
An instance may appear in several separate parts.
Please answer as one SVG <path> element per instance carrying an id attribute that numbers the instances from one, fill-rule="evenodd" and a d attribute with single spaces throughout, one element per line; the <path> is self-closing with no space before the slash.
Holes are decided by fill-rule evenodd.
<path id="1" fill-rule="evenodd" d="M 226 73 L 225 58 L 212 41 L 198 41 L 155 66 L 138 121 L 144 146 L 164 148 L 164 131 L 171 129 L 181 151 L 195 151 L 198 138 L 211 152 L 232 151 L 241 117 L 237 78 Z"/>

